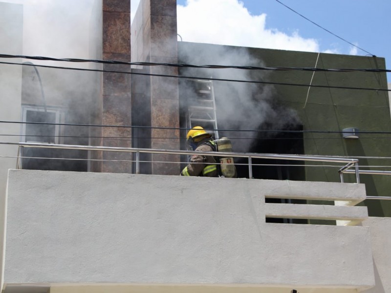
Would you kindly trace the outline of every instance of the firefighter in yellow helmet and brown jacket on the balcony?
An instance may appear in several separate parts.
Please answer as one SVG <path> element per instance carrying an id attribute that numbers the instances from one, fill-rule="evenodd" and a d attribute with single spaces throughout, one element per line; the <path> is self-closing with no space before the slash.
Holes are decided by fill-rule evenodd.
<path id="1" fill-rule="evenodd" d="M 201 126 L 195 126 L 186 135 L 188 148 L 196 151 L 217 151 L 212 135 Z M 182 176 L 218 177 L 216 160 L 213 156 L 193 155 L 188 166 L 180 173 Z"/>

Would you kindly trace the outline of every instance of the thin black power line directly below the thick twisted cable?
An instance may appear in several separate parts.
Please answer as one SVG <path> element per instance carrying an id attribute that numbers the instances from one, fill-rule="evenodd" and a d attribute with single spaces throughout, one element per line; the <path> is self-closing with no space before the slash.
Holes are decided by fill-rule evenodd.
<path id="1" fill-rule="evenodd" d="M 23 65 L 31 66 L 31 64 L 26 63 L 12 63 L 12 62 L 0 62 L 0 64 L 11 64 L 11 65 Z M 62 66 L 49 66 L 49 65 L 35 65 L 37 67 L 44 68 L 56 68 L 56 69 L 66 69 L 66 70 L 80 70 L 80 71 L 91 71 L 91 72 L 108 72 L 108 73 L 121 73 L 121 74 L 130 74 L 130 75 L 144 75 L 144 76 L 157 76 L 157 77 L 170 77 L 170 78 L 184 78 L 192 80 L 210 80 L 210 81 L 220 81 L 220 82 L 234 82 L 234 83 L 247 83 L 247 84 L 272 84 L 272 85 L 290 85 L 290 86 L 311 86 L 311 87 L 320 87 L 320 88 L 338 88 L 338 89 L 356 89 L 356 90 L 376 90 L 376 91 L 390 91 L 391 89 L 385 88 L 372 88 L 372 87 L 353 87 L 353 86 L 331 86 L 331 85 L 319 85 L 319 84 L 290 84 L 290 83 L 276 83 L 276 82 L 260 82 L 253 80 L 233 80 L 233 79 L 221 79 L 221 78 L 211 78 L 211 77 L 195 77 L 195 76 L 185 76 L 185 75 L 168 75 L 168 74 L 154 74 L 154 73 L 141 73 L 141 72 L 129 72 L 129 71 L 116 71 L 116 70 L 104 70 L 104 69 L 87 69 L 87 68 L 72 68 L 72 67 L 62 67 Z M 379 69 L 381 70 L 381 69 Z M 388 70 L 391 72 L 391 70 Z"/>

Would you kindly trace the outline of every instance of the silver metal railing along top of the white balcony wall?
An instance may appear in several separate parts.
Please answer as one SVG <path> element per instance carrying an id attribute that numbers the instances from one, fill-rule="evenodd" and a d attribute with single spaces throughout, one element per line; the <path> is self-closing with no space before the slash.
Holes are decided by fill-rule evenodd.
<path id="1" fill-rule="evenodd" d="M 134 148 L 134 147 L 114 147 L 114 146 L 76 146 L 76 145 L 56 145 L 56 144 L 39 144 L 39 143 L 19 143 L 17 168 L 20 168 L 21 163 L 21 148 L 23 147 L 38 147 L 38 148 L 60 148 L 60 149 L 77 149 L 77 150 L 93 150 L 93 151 L 115 151 L 115 152 L 130 152 L 135 153 L 135 173 L 140 173 L 140 153 L 155 153 L 155 154 L 174 154 L 174 155 L 210 155 L 210 152 L 191 151 L 191 150 L 169 150 L 169 149 L 152 149 L 152 148 Z M 338 158 L 338 157 L 322 157 L 322 156 L 305 156 L 305 155 L 282 155 L 282 154 L 257 154 L 257 153 L 240 153 L 240 152 L 214 152 L 213 156 L 219 157 L 234 157 L 247 158 L 249 178 L 253 178 L 252 159 L 279 159 L 291 161 L 311 161 L 311 162 L 329 162 L 346 164 L 340 168 L 341 182 L 343 173 L 355 173 L 356 183 L 360 183 L 358 159 Z M 167 162 L 170 163 L 170 162 Z M 172 162 L 171 162 L 172 163 Z M 350 169 L 354 167 L 354 170 Z"/>

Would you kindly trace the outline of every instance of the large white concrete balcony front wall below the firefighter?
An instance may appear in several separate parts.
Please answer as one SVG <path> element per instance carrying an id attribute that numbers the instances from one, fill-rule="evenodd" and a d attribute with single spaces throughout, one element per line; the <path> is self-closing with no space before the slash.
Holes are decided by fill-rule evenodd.
<path id="1" fill-rule="evenodd" d="M 349 186 L 11 170 L 4 281 L 366 289 L 368 227 L 265 223 L 265 194 Z"/>

